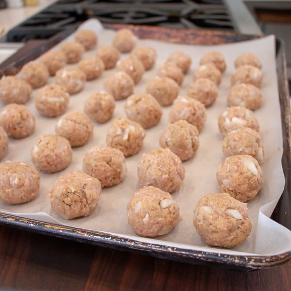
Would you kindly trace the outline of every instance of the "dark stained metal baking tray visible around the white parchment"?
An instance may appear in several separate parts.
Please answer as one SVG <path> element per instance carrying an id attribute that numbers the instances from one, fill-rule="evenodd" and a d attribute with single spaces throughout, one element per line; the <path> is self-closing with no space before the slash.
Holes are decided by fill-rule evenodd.
<path id="1" fill-rule="evenodd" d="M 241 35 L 233 32 L 213 32 L 202 30 L 172 30 L 167 28 L 130 26 L 130 25 L 104 25 L 105 28 L 119 29 L 127 27 L 140 38 L 151 38 L 173 43 L 187 43 L 194 45 L 218 45 L 226 43 L 241 42 L 259 38 L 260 36 Z M 71 33 L 71 32 L 69 32 Z M 59 35 L 48 42 L 40 42 L 33 49 L 26 46 L 21 49 L 18 55 L 13 55 L 5 64 L 0 65 L 0 73 L 15 74 L 20 67 L 37 58 L 39 55 L 50 49 L 53 45 L 61 41 L 69 33 Z M 284 44 L 276 40 L 276 66 L 278 77 L 278 90 L 281 109 L 281 124 L 283 132 L 283 156 L 282 167 L 285 175 L 285 188 L 272 214 L 279 224 L 291 229 L 291 188 L 290 188 L 290 168 L 291 168 L 291 112 L 288 80 L 286 74 L 286 60 Z M 283 263 L 291 258 L 291 251 L 275 256 L 240 256 L 227 255 L 214 252 L 189 250 L 179 247 L 169 247 L 155 243 L 139 242 L 133 239 L 126 239 L 120 236 L 110 235 L 99 231 L 84 230 L 81 228 L 60 226 L 56 224 L 21 218 L 0 212 L 0 223 L 3 225 L 15 226 L 38 233 L 61 237 L 79 242 L 92 243 L 96 245 L 118 248 L 128 251 L 137 251 L 160 258 L 179 260 L 194 264 L 217 265 L 225 268 L 237 270 L 251 270 L 271 267 Z"/>

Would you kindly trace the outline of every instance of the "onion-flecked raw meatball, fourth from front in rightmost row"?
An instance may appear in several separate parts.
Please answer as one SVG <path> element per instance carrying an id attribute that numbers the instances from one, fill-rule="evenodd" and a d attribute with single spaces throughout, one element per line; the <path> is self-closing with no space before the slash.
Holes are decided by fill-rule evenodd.
<path id="1" fill-rule="evenodd" d="M 228 107 L 218 117 L 218 128 L 223 135 L 241 127 L 248 127 L 259 132 L 257 118 L 251 110 L 245 107 Z"/>

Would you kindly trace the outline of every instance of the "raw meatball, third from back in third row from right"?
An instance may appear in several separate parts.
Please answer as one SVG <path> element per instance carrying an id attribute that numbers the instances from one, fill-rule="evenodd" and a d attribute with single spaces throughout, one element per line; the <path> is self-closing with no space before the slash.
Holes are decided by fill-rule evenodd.
<path id="1" fill-rule="evenodd" d="M 167 106 L 178 97 L 179 85 L 168 77 L 157 76 L 147 83 L 146 93 L 155 97 L 162 106 Z"/>

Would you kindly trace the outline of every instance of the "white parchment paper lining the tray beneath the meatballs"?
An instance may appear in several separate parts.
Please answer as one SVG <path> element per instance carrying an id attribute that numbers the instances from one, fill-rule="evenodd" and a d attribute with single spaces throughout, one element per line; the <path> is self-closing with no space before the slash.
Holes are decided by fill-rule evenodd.
<path id="1" fill-rule="evenodd" d="M 80 27 L 80 29 L 83 28 L 94 29 L 97 32 L 99 37 L 98 46 L 110 45 L 115 33 L 114 31 L 103 29 L 97 20 L 85 22 Z M 73 40 L 73 35 L 67 40 Z M 218 50 L 226 58 L 227 70 L 219 86 L 218 99 L 212 107 L 207 109 L 207 122 L 199 135 L 200 146 L 194 158 L 183 163 L 186 168 L 186 177 L 183 186 L 173 194 L 173 197 L 180 207 L 181 220 L 178 226 L 171 233 L 155 239 L 141 238 L 136 236 L 130 229 L 126 217 L 126 205 L 132 194 L 140 187 L 136 176 L 137 161 L 142 153 L 159 147 L 159 135 L 162 129 L 168 124 L 170 107 L 163 107 L 163 116 L 159 125 L 152 129 L 146 129 L 143 150 L 139 154 L 126 159 L 128 173 L 124 181 L 112 188 L 102 189 L 97 209 L 91 216 L 71 221 L 61 218 L 50 209 L 47 193 L 60 175 L 73 169 L 81 170 L 82 157 L 89 147 L 93 145 L 106 145 L 106 132 L 113 119 L 105 125 L 95 123 L 93 139 L 85 146 L 73 148 L 73 160 L 68 168 L 56 174 L 41 173 L 40 193 L 35 200 L 23 205 L 0 203 L 0 210 L 22 217 L 104 231 L 124 238 L 133 238 L 141 242 L 160 243 L 171 247 L 179 246 L 186 249 L 240 255 L 275 255 L 290 251 L 291 231 L 268 218 L 275 208 L 285 183 L 281 166 L 283 147 L 276 81 L 275 37 L 272 35 L 257 40 L 219 46 L 180 45 L 139 39 L 137 40 L 137 45 L 154 47 L 157 50 L 158 59 L 155 67 L 150 71 L 146 71 L 140 83 L 135 86 L 134 93 L 145 92 L 146 83 L 156 76 L 157 69 L 164 63 L 172 51 L 182 50 L 192 58 L 192 66 L 184 78 L 180 88 L 180 95 L 185 95 L 187 87 L 192 81 L 194 70 L 197 68 L 199 59 L 203 54 L 211 50 Z M 221 148 L 223 136 L 218 131 L 217 118 L 226 108 L 226 96 L 230 88 L 230 76 L 234 71 L 233 61 L 245 51 L 252 51 L 258 55 L 263 64 L 264 79 L 261 87 L 263 102 L 261 108 L 255 112 L 255 115 L 259 121 L 260 134 L 265 151 L 265 161 L 262 165 L 264 184 L 262 191 L 248 203 L 248 213 L 253 225 L 251 235 L 242 245 L 232 250 L 224 250 L 205 246 L 205 243 L 195 232 L 192 219 L 193 210 L 200 197 L 212 192 L 219 192 L 215 173 L 219 164 L 224 161 L 224 156 Z M 96 49 L 86 52 L 84 57 L 92 56 L 95 52 Z M 126 58 L 127 56 L 128 54 L 123 54 L 122 58 Z M 104 79 L 114 71 L 115 69 L 104 71 L 99 79 L 88 81 L 85 89 L 81 93 L 70 97 L 67 111 L 73 109 L 82 110 L 84 100 L 91 93 L 102 90 Z M 51 78 L 49 83 L 52 82 L 53 79 Z M 30 150 L 38 136 L 41 134 L 54 134 L 54 126 L 59 118 L 50 119 L 38 114 L 33 103 L 36 93 L 37 90 L 34 90 L 31 100 L 27 103 L 27 107 L 37 119 L 35 132 L 30 137 L 22 140 L 10 139 L 9 152 L 3 161 L 31 162 Z M 123 108 L 124 104 L 124 100 L 116 101 L 116 110 L 113 118 L 126 117 Z M 1 106 L 4 106 L 4 104 Z"/>

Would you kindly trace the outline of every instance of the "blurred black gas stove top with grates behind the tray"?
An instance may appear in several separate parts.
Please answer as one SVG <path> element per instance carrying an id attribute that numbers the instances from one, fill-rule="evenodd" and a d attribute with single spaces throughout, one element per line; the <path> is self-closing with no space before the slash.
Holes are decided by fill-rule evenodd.
<path id="1" fill-rule="evenodd" d="M 47 39 L 92 17 L 102 23 L 234 31 L 222 0 L 59 0 L 10 30 L 6 41 Z"/>

